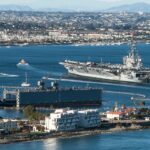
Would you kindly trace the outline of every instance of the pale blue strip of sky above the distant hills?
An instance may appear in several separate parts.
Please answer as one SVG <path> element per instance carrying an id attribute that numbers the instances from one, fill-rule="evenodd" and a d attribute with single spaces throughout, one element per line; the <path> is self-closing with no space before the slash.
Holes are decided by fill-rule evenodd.
<path id="1" fill-rule="evenodd" d="M 0 5 L 18 4 L 28 5 L 32 8 L 100 10 L 137 2 L 150 3 L 150 0 L 0 0 Z"/>

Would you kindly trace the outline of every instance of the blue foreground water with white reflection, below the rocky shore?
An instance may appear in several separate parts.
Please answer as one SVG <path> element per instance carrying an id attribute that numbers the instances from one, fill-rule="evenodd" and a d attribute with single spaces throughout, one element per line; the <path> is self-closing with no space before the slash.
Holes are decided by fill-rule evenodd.
<path id="1" fill-rule="evenodd" d="M 0 145 L 2 150 L 149 150 L 150 131 L 118 132 Z"/>

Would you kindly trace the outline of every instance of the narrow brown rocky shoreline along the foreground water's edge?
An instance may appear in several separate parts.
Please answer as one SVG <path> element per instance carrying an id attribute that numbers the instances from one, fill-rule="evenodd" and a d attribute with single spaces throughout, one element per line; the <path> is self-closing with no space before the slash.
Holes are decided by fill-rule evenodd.
<path id="1" fill-rule="evenodd" d="M 52 134 L 40 134 L 40 133 L 29 133 L 25 134 L 22 138 L 14 138 L 14 137 L 5 137 L 4 139 L 0 139 L 0 144 L 11 144 L 11 143 L 20 143 L 20 142 L 32 142 L 32 141 L 43 141 L 51 138 L 77 138 L 83 136 L 91 136 L 98 134 L 111 134 L 116 132 L 128 132 L 128 131 L 140 131 L 150 129 L 150 126 L 143 127 L 139 125 L 131 125 L 130 127 L 124 126 L 116 126 L 115 128 L 110 129 L 91 129 L 91 130 L 81 130 L 81 131 L 71 131 L 71 132 L 55 132 Z M 15 136 L 15 135 L 14 135 Z M 29 136 L 29 137 L 27 137 Z"/>

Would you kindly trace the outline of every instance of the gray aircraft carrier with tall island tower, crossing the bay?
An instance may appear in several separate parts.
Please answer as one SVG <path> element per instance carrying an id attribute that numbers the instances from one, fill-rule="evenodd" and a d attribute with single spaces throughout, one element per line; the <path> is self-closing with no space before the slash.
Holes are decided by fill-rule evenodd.
<path id="1" fill-rule="evenodd" d="M 123 57 L 123 64 L 78 62 L 65 60 L 60 62 L 70 74 L 94 80 L 115 82 L 148 83 L 150 68 L 142 64 L 135 43 L 130 43 L 130 52 Z"/>

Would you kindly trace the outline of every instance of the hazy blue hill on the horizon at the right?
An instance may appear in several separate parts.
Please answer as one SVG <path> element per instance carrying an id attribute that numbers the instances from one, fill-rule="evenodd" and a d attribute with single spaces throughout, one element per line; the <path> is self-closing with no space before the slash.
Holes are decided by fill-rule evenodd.
<path id="1" fill-rule="evenodd" d="M 112 7 L 105 12 L 150 12 L 150 4 L 147 3 L 135 3 L 130 5 L 121 5 L 118 7 Z"/>

